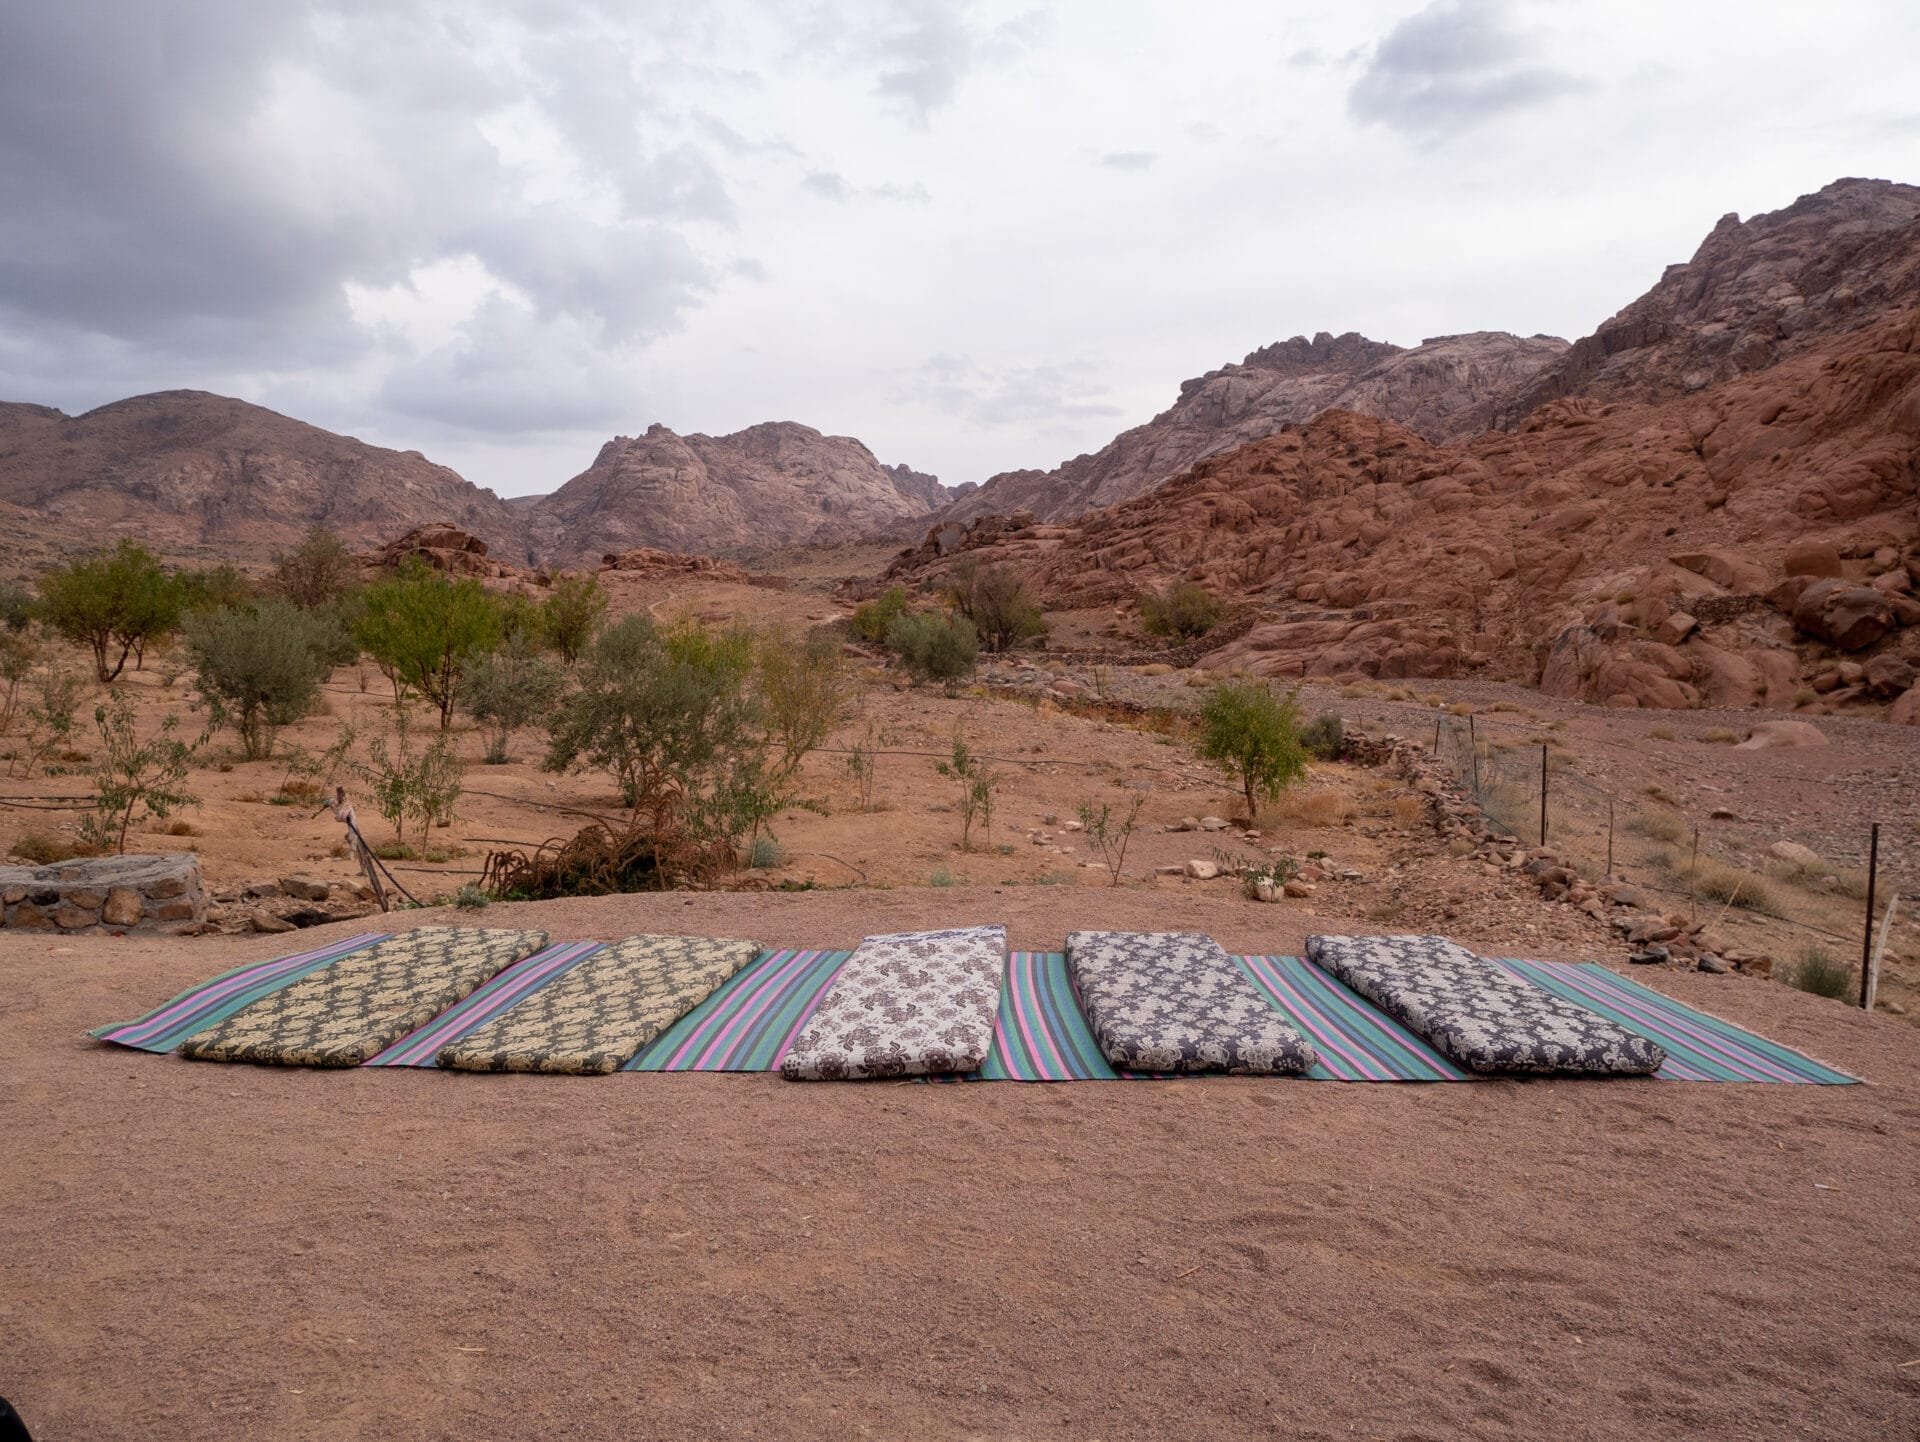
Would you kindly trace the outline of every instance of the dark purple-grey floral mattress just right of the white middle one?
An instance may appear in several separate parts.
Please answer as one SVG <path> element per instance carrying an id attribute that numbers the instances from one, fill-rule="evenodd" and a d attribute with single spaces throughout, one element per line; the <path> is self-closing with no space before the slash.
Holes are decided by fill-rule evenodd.
<path id="1" fill-rule="evenodd" d="M 1306 1071 L 1319 1060 L 1212 937 L 1073 931 L 1068 973 L 1121 1071 Z"/>

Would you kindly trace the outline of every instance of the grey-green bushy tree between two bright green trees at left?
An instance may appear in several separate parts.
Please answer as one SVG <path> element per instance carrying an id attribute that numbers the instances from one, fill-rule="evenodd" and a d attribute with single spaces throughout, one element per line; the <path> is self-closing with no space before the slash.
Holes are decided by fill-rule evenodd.
<path id="1" fill-rule="evenodd" d="M 215 611 L 186 624 L 194 685 L 215 728 L 232 726 L 248 760 L 267 760 L 278 730 L 321 695 L 338 649 L 338 622 L 290 601 Z"/>

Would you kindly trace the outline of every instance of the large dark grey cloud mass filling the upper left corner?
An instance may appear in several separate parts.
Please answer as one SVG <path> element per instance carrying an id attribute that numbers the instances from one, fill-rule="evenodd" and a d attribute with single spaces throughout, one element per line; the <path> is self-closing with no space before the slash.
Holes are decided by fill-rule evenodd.
<path id="1" fill-rule="evenodd" d="M 353 336 L 344 284 L 468 253 L 543 315 L 616 340 L 672 328 L 714 282 L 676 227 L 726 223 L 732 202 L 649 104 L 651 61 L 609 38 L 609 13 L 589 0 L 457 19 L 424 0 L 12 8 L 0 323 L 52 346 L 98 334 L 188 363 L 292 365 Z M 538 42 L 505 46 L 509 61 L 516 25 Z M 478 121 L 528 98 L 611 184 L 614 215 L 520 198 Z"/>

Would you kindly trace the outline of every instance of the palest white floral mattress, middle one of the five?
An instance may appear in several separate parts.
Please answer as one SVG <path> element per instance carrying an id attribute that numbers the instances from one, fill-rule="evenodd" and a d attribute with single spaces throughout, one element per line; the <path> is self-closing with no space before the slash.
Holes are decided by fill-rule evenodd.
<path id="1" fill-rule="evenodd" d="M 780 1062 L 789 1081 L 977 1071 L 993 1045 L 1006 927 L 868 937 Z"/>

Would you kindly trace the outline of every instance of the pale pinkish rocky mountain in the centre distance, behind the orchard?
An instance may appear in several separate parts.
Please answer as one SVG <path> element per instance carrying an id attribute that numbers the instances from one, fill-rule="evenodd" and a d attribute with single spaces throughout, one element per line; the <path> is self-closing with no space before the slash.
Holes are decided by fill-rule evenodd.
<path id="1" fill-rule="evenodd" d="M 526 511 L 559 565 L 609 551 L 720 551 L 881 534 L 948 499 L 933 478 L 883 467 L 851 436 L 774 421 L 732 436 L 614 436 L 593 465 Z"/>

